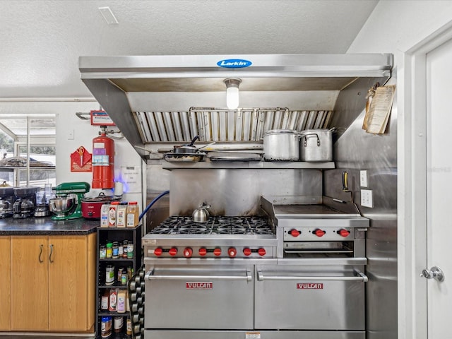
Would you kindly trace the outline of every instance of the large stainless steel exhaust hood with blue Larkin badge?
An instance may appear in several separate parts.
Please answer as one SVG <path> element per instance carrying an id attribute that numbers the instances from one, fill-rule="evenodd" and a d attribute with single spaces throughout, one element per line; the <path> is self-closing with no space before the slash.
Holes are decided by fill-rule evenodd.
<path id="1" fill-rule="evenodd" d="M 325 127 L 341 90 L 359 78 L 386 83 L 392 64 L 392 54 L 79 58 L 82 81 L 145 159 L 140 148 L 196 133 L 206 143 L 258 143 L 268 129 Z M 226 78 L 242 81 L 239 109 L 225 108 Z"/>

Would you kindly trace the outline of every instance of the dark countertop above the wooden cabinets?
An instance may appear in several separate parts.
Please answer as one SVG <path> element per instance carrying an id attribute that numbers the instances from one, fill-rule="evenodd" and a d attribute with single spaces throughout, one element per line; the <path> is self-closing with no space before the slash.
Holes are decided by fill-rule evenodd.
<path id="1" fill-rule="evenodd" d="M 52 220 L 51 217 L 0 219 L 1 235 L 86 235 L 96 232 L 99 220 L 78 218 L 73 220 Z"/>

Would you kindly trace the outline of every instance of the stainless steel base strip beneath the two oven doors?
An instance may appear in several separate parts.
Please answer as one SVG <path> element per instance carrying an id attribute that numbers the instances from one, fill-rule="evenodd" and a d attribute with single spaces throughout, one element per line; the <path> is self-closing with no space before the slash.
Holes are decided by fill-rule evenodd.
<path id="1" fill-rule="evenodd" d="M 145 339 L 365 339 L 365 331 L 160 331 L 146 330 Z"/>

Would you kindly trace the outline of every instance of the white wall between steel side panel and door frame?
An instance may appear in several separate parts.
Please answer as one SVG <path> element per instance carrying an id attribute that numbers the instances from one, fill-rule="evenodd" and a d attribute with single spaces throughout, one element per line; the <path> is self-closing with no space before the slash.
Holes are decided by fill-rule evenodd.
<path id="1" fill-rule="evenodd" d="M 398 338 L 426 338 L 426 305 L 417 293 L 418 268 L 415 256 L 425 249 L 415 246 L 415 227 L 410 221 L 409 178 L 404 179 L 410 168 L 405 164 L 405 153 L 410 153 L 410 119 L 412 110 L 410 81 L 412 74 L 405 58 L 430 37 L 452 27 L 452 1 L 381 0 L 376 5 L 362 30 L 352 42 L 348 53 L 392 53 L 394 71 L 391 83 L 397 83 L 396 109 L 398 114 Z M 412 95 L 420 95 L 415 88 Z M 407 127 L 408 126 L 408 127 Z M 413 132 L 414 133 L 414 132 Z M 406 142 L 406 145 L 405 145 Z M 407 184 L 408 183 L 408 184 Z M 407 218 L 408 216 L 408 218 Z M 422 292 L 425 293 L 425 292 Z M 422 298 L 421 298 L 422 299 Z M 420 302 L 420 304 L 417 304 Z"/>

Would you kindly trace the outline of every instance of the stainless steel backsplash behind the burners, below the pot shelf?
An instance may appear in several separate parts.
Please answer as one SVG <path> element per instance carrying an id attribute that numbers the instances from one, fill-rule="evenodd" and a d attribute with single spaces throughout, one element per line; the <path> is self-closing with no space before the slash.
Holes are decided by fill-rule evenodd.
<path id="1" fill-rule="evenodd" d="M 208 203 L 213 215 L 259 215 L 261 196 L 321 196 L 319 169 L 172 169 L 170 215 Z"/>

